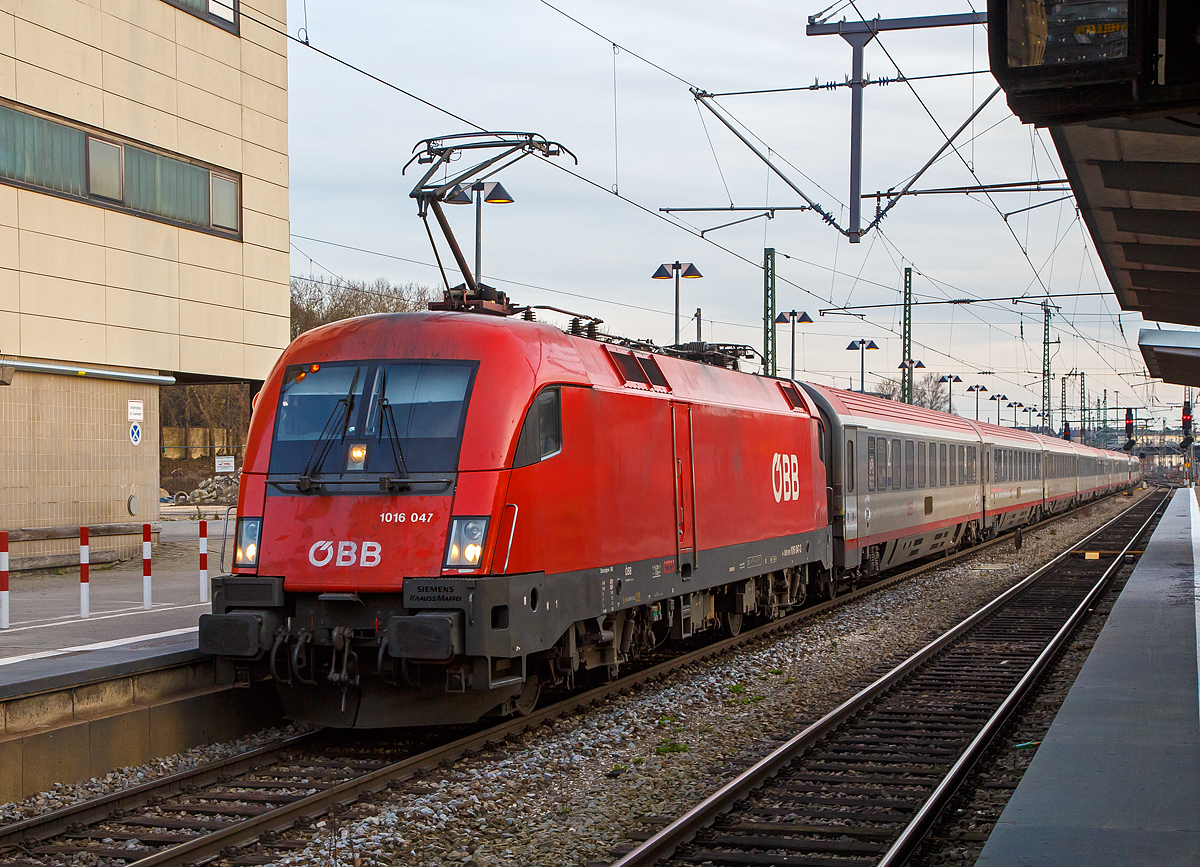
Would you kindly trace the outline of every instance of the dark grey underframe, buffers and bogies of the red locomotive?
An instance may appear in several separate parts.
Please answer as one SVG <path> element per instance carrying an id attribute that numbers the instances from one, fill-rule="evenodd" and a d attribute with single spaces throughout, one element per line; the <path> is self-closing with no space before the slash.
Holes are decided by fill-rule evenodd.
<path id="1" fill-rule="evenodd" d="M 199 648 L 223 682 L 270 677 L 289 716 L 331 728 L 524 713 L 545 686 L 607 680 L 666 639 L 736 633 L 743 616 L 803 604 L 832 574 L 828 528 L 811 536 L 794 560 L 816 562 L 710 586 L 696 575 L 690 591 L 643 588 L 664 579 L 636 574 L 623 584 L 538 573 L 410 579 L 398 593 L 284 593 L 282 578 L 223 575 Z"/>

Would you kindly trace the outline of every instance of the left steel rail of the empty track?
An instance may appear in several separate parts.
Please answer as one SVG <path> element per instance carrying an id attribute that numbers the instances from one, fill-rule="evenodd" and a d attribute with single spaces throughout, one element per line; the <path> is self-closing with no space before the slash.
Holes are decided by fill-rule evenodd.
<path id="1" fill-rule="evenodd" d="M 1169 498 L 1169 495 L 1168 495 Z M 1163 502 L 1166 502 L 1164 498 Z M 1012 602 L 1016 596 L 1022 593 L 1027 587 L 1037 582 L 1045 575 L 1051 568 L 1057 566 L 1061 561 L 1064 561 L 1072 555 L 1078 548 L 1086 545 L 1092 538 L 1099 536 L 1111 525 L 1120 521 L 1129 512 L 1140 507 L 1142 501 L 1130 504 L 1128 509 L 1105 522 L 1103 526 L 1097 528 L 1094 532 L 1090 533 L 1082 540 L 1072 545 L 1067 551 L 1057 555 L 1049 562 L 1044 563 L 1042 567 L 1031 573 L 1022 581 L 1018 582 L 1013 587 L 1001 593 L 998 597 L 992 599 L 990 603 L 980 608 L 978 611 L 952 627 L 949 630 L 943 633 L 941 636 L 934 639 L 928 645 L 922 647 L 919 651 L 913 653 L 911 657 L 904 662 L 895 665 L 890 671 L 884 674 L 882 677 L 876 680 L 874 683 L 864 687 L 853 696 L 840 704 L 834 710 L 829 711 L 827 714 L 821 717 L 821 719 L 808 725 L 799 734 L 794 735 L 782 746 L 776 748 L 769 755 L 764 757 L 757 761 L 751 767 L 743 771 L 736 778 L 722 785 L 715 793 L 706 797 L 703 801 L 697 803 L 690 811 L 684 813 L 682 817 L 664 826 L 658 833 L 637 845 L 635 849 L 630 850 L 625 855 L 620 856 L 612 862 L 611 867 L 649 867 L 659 861 L 662 861 L 676 853 L 676 850 L 690 842 L 692 837 L 704 827 L 708 827 L 720 817 L 722 813 L 728 812 L 728 809 L 737 801 L 742 800 L 749 795 L 755 789 L 760 788 L 767 779 L 773 777 L 780 770 L 791 764 L 800 753 L 814 746 L 817 741 L 824 737 L 827 734 L 833 731 L 835 728 L 841 725 L 846 719 L 852 717 L 859 710 L 865 707 L 868 704 L 872 702 L 878 696 L 887 693 L 893 686 L 899 681 L 907 677 L 913 670 L 920 666 L 923 663 L 931 659 L 946 646 L 958 640 L 970 629 L 974 628 L 977 624 L 983 622 L 985 618 L 1002 609 L 1009 602 Z M 1154 514 L 1163 503 L 1156 506 Z M 1153 515 L 1151 520 L 1153 519 Z M 1147 521 L 1148 522 L 1148 521 Z M 1139 528 L 1138 534 L 1132 537 L 1133 540 L 1140 536 L 1141 530 L 1145 528 L 1145 524 Z M 1128 549 L 1129 545 L 1126 545 Z M 978 550 L 978 549 L 971 549 Z M 1118 557 L 1114 563 L 1120 563 L 1123 557 Z M 1110 567 L 1111 569 L 1112 567 Z M 1108 570 L 1106 570 L 1108 572 Z M 1084 609 L 1086 611 L 1086 608 Z M 1040 659 L 1040 657 L 1039 657 Z M 1026 683 L 1026 678 L 1022 678 L 1021 683 Z M 1020 686 L 1020 684 L 1019 684 Z M 1026 687 L 1027 688 L 1027 687 Z M 1008 704 L 1006 701 L 1006 704 Z M 973 764 L 973 763 L 972 763 Z M 967 769 L 970 765 L 967 765 Z M 941 787 L 938 787 L 941 790 Z M 950 790 L 953 793 L 953 790 Z M 947 795 L 948 796 L 948 795 Z M 936 811 L 932 812 L 932 817 L 936 817 Z M 930 819 L 932 818 L 930 817 Z M 916 838 L 920 839 L 919 836 Z"/>

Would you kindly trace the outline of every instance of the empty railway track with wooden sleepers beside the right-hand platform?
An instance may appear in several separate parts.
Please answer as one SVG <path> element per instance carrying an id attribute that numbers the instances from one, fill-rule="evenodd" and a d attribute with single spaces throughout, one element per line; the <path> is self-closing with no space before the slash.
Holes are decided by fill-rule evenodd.
<path id="1" fill-rule="evenodd" d="M 1169 501 L 1148 496 L 613 867 L 896 867 Z M 1098 552 L 1098 558 L 1072 556 Z"/>

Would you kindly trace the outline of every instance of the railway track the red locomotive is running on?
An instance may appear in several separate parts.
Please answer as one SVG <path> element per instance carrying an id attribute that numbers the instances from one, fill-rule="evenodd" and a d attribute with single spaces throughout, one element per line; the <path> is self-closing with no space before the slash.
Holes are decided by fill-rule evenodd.
<path id="1" fill-rule="evenodd" d="M 370 797 L 371 793 L 401 784 L 420 771 L 1008 539 L 1009 534 L 997 537 L 746 629 L 734 638 L 652 662 L 612 683 L 554 701 L 527 717 L 451 731 L 406 730 L 383 739 L 318 731 L 2 826 L 0 867 L 53 867 L 76 863 L 80 855 L 114 867 L 200 863 L 218 857 L 229 865 L 266 863 L 274 859 L 262 850 L 280 855 L 293 845 L 277 839 L 278 831 L 307 825 L 341 806 Z M 256 842 L 260 851 L 238 851 L 239 847 Z"/>

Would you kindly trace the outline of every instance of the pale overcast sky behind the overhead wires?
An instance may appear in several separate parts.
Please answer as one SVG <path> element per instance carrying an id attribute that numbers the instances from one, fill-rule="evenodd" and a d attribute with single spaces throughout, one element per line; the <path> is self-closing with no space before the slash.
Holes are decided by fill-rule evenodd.
<path id="1" fill-rule="evenodd" d="M 971 11 L 966 0 L 856 4 L 857 11 L 847 5 L 835 19 Z M 253 0 L 242 6 L 253 14 Z M 930 371 L 961 376 L 955 409 L 973 415 L 973 397 L 968 402 L 962 393 L 972 383 L 1040 406 L 1037 303 L 1049 288 L 1062 307 L 1052 324 L 1052 339 L 1062 341 L 1052 347 L 1055 375 L 1084 371 L 1093 399 L 1108 389 L 1111 407 L 1118 391 L 1122 406 L 1133 400 L 1145 407 L 1140 414 L 1151 411 L 1154 426 L 1163 418 L 1177 425 L 1182 390 L 1144 378 L 1136 349 L 1144 323 L 1120 312 L 1074 202 L 1007 222 L 1001 216 L 1063 193 L 905 198 L 882 233 L 857 245 L 811 211 L 778 211 L 774 220 L 709 232 L 707 240 L 700 229 L 750 213 L 661 219 L 660 208 L 803 204 L 698 106 L 689 85 L 727 92 L 845 80 L 850 46 L 838 36 L 804 35 L 808 17 L 821 11 L 818 2 L 764 0 L 553 0 L 553 7 L 540 0 L 289 0 L 288 30 L 302 36 L 306 28 L 313 47 L 466 121 L 538 132 L 577 155 L 578 166 L 565 156 L 552 163 L 526 159 L 499 177 L 515 203 L 484 207 L 485 282 L 517 303 L 598 316 L 612 333 L 670 343 L 673 285 L 650 274 L 659 263 L 682 259 L 704 275 L 683 285 L 684 339 L 695 335 L 692 317 L 701 307 L 706 340 L 761 348 L 760 265 L 763 247 L 773 246 L 779 309 L 804 310 L 815 321 L 797 330 L 797 376 L 844 388 L 853 377 L 857 388 L 859 355 L 846 346 L 869 337 L 882 349 L 866 355 L 870 389 L 899 372 L 900 310 L 858 311 L 865 316 L 859 319 L 821 316 L 821 309 L 895 304 L 905 265 L 916 271 L 919 300 L 1027 295 L 1033 304 L 914 311 L 913 357 Z M 895 77 L 896 65 L 910 78 L 986 70 L 986 34 L 982 26 L 887 32 L 868 46 L 872 78 Z M 470 127 L 301 44 L 289 46 L 289 72 L 292 273 L 440 287 L 408 197 L 415 167 L 407 175 L 401 169 L 420 139 Z M 984 73 L 866 88 L 864 192 L 901 186 L 944 143 L 938 127 L 953 132 L 995 86 Z M 718 102 L 770 149 L 797 186 L 846 225 L 847 88 Z M 1003 94 L 958 143 L 961 159 L 948 151 L 916 189 L 1062 177 L 1049 134 L 1016 120 Z M 470 259 L 474 209 L 448 210 Z M 874 201 L 864 207 L 866 217 L 872 213 Z M 443 257 L 449 259 L 444 247 Z M 1081 295 L 1096 292 L 1104 295 Z M 790 367 L 790 334 L 780 328 L 781 373 Z M 995 373 L 978 373 L 985 370 Z M 1078 378 L 1069 379 L 1069 394 L 1078 407 Z M 1056 378 L 1056 426 L 1060 401 Z M 982 406 L 995 421 L 996 403 Z M 1078 408 L 1068 412 L 1076 417 Z M 1006 408 L 1006 424 L 1012 419 Z"/>

